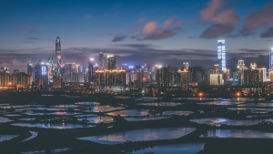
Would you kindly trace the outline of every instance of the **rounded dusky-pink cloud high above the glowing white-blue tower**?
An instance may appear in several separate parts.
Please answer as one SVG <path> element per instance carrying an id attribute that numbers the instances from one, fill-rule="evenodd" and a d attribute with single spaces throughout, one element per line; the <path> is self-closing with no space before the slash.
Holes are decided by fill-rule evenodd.
<path id="1" fill-rule="evenodd" d="M 233 14 L 233 8 L 227 8 L 226 10 L 220 12 L 212 20 L 217 24 L 230 25 L 236 25 L 239 22 L 238 15 Z"/>

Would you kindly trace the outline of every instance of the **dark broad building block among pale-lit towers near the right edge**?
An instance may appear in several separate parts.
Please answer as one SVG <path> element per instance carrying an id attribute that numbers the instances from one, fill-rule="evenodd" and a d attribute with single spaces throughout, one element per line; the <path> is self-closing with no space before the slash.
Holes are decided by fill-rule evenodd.
<path id="1" fill-rule="evenodd" d="M 244 70 L 244 85 L 253 86 L 259 82 L 258 70 Z"/>

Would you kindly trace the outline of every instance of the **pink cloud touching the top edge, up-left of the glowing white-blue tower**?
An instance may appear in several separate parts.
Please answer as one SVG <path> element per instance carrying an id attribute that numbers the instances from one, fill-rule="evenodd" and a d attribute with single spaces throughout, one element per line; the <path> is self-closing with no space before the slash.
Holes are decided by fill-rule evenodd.
<path id="1" fill-rule="evenodd" d="M 217 9 L 220 8 L 224 4 L 225 4 L 225 1 L 223 1 L 223 0 L 210 1 L 208 7 L 201 10 L 200 14 L 201 14 L 202 18 L 207 21 L 211 20 L 214 17 Z"/>

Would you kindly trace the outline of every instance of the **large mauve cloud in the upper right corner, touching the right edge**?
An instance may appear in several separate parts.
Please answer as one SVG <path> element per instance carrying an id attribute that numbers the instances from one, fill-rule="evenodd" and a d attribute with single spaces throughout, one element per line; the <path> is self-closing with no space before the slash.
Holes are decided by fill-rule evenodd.
<path id="1" fill-rule="evenodd" d="M 245 19 L 243 30 L 250 30 L 257 27 L 263 27 L 273 23 L 273 4 L 268 3 L 262 11 L 248 15 Z"/>

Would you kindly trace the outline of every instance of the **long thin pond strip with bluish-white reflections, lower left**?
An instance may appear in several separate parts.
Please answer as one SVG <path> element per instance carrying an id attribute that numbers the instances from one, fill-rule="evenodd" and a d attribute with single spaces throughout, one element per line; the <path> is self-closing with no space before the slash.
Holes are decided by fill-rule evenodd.
<path id="1" fill-rule="evenodd" d="M 15 123 L 14 126 L 28 127 L 28 128 L 91 128 L 96 125 L 82 125 L 82 124 L 50 124 L 50 123 Z"/>

